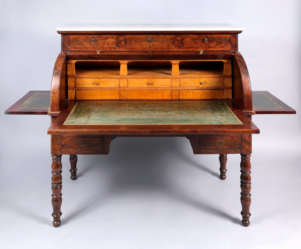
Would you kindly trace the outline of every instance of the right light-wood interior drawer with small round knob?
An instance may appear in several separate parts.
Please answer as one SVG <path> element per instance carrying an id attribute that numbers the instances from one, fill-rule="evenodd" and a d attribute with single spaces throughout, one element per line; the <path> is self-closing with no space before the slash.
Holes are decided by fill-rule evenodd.
<path id="1" fill-rule="evenodd" d="M 224 78 L 180 78 L 180 87 L 224 87 Z"/>

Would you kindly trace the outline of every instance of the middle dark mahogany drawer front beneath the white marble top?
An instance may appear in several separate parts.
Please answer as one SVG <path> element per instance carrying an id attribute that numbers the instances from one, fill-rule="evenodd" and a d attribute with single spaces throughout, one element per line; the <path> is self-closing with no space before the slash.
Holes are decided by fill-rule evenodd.
<path id="1" fill-rule="evenodd" d="M 175 36 L 126 35 L 126 48 L 175 48 Z"/>

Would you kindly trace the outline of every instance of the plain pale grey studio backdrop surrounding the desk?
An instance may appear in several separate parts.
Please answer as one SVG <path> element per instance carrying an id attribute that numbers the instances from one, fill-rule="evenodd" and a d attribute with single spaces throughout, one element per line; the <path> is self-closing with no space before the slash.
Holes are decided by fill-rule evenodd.
<path id="1" fill-rule="evenodd" d="M 0 1 L 2 248 L 297 248 L 300 242 L 301 5 L 287 1 Z M 296 115 L 253 122 L 251 225 L 240 225 L 239 155 L 218 179 L 217 155 L 185 138 L 119 138 L 110 155 L 63 156 L 62 226 L 52 227 L 47 115 L 4 115 L 29 90 L 50 90 L 65 23 L 231 23 L 252 90 Z M 68 245 L 68 246 L 67 246 Z"/>

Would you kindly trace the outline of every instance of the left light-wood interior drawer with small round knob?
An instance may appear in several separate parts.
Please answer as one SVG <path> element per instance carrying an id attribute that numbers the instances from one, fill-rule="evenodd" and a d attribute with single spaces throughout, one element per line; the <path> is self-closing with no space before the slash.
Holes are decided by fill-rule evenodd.
<path id="1" fill-rule="evenodd" d="M 114 78 L 76 78 L 75 87 L 119 87 L 119 79 Z"/>

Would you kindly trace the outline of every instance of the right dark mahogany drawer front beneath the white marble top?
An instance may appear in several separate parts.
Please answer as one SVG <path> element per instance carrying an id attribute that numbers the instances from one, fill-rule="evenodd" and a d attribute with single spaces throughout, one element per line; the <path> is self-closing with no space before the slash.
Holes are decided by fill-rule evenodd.
<path id="1" fill-rule="evenodd" d="M 231 35 L 181 35 L 181 48 L 231 50 Z"/>

